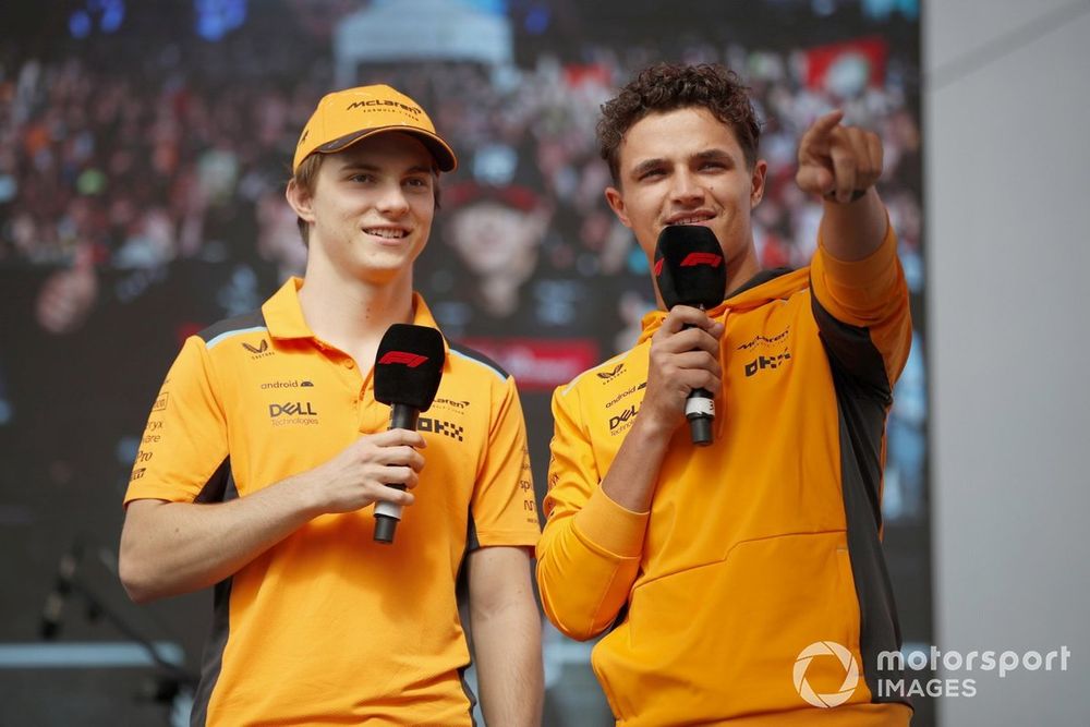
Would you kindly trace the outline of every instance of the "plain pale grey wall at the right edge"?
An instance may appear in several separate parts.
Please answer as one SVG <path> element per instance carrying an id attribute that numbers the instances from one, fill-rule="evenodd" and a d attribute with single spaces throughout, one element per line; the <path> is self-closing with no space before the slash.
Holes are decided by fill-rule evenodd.
<path id="1" fill-rule="evenodd" d="M 924 9 L 924 65 L 945 82 L 924 90 L 935 644 L 1071 651 L 1066 673 L 950 671 L 974 677 L 977 694 L 940 699 L 944 727 L 1090 724 L 1090 12 L 1080 8 L 1090 2 Z M 1057 10 L 1066 22 L 1045 32 L 1036 20 Z M 1001 53 L 992 44 L 1005 36 L 1021 46 Z M 950 75 L 981 48 L 998 57 Z"/>

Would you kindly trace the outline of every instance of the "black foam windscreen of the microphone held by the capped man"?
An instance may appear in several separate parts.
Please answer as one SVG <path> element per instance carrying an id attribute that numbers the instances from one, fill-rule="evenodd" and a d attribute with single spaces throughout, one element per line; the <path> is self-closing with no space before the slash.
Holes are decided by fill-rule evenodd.
<path id="1" fill-rule="evenodd" d="M 435 328 L 393 324 L 375 355 L 375 399 L 427 411 L 439 390 L 445 358 L 443 335 Z"/>

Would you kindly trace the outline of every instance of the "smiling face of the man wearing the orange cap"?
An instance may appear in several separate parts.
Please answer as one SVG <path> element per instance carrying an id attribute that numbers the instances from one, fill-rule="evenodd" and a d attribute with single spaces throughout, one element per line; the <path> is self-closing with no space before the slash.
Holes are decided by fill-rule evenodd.
<path id="1" fill-rule="evenodd" d="M 412 275 L 435 215 L 435 161 L 415 137 L 376 134 L 327 155 L 313 194 L 288 202 L 310 225 L 307 275 L 318 268 L 373 284 Z"/>

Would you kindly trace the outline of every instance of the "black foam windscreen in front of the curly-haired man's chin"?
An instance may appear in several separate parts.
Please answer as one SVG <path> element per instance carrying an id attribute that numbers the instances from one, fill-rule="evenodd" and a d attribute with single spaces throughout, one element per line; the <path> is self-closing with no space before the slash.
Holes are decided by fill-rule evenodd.
<path id="1" fill-rule="evenodd" d="M 715 233 L 700 225 L 669 225 L 655 245 L 655 282 L 669 310 L 715 307 L 727 293 L 727 264 Z"/>

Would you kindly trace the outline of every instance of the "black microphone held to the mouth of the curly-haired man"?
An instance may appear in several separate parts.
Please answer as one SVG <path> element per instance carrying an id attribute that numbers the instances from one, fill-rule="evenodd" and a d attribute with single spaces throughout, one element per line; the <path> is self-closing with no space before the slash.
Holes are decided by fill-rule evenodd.
<path id="1" fill-rule="evenodd" d="M 722 303 L 727 292 L 727 266 L 715 233 L 699 225 L 666 227 L 655 245 L 655 282 L 667 311 L 675 305 L 706 311 Z M 706 389 L 690 391 L 685 415 L 692 444 L 712 444 L 712 393 Z"/>

